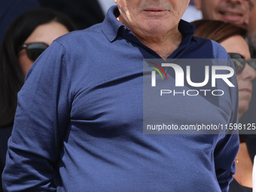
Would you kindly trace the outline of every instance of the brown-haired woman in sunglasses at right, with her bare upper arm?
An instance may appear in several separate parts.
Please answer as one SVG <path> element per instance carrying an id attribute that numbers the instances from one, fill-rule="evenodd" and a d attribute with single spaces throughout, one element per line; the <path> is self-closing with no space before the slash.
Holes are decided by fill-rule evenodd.
<path id="1" fill-rule="evenodd" d="M 239 118 L 248 110 L 252 84 L 256 78 L 255 64 L 251 60 L 245 29 L 218 20 L 197 20 L 195 36 L 209 38 L 221 44 L 229 53 L 236 68 L 239 88 Z M 239 135 L 240 148 L 236 157 L 236 174 L 230 183 L 230 192 L 252 191 L 252 162 L 256 154 L 256 141 L 248 142 L 245 135 Z"/>

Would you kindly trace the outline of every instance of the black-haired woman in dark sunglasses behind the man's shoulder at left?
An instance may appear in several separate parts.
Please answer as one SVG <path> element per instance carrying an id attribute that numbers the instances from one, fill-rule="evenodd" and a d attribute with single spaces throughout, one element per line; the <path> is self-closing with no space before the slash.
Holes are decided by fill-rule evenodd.
<path id="1" fill-rule="evenodd" d="M 26 73 L 55 38 L 73 30 L 69 17 L 45 8 L 27 11 L 9 26 L 0 53 L 0 175 Z"/>

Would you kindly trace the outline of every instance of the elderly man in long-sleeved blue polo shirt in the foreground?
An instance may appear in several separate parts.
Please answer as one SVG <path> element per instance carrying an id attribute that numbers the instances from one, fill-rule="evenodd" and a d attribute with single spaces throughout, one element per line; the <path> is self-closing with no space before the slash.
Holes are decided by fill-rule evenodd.
<path id="1" fill-rule="evenodd" d="M 181 20 L 189 0 L 115 2 L 103 23 L 56 39 L 29 71 L 8 142 L 5 190 L 227 191 L 235 131 L 143 133 L 143 59 L 227 59 L 226 51 L 195 38 L 194 26 Z M 235 75 L 226 81 L 234 87 L 220 79 L 219 97 L 165 96 L 169 122 L 177 129 L 237 123 Z"/>

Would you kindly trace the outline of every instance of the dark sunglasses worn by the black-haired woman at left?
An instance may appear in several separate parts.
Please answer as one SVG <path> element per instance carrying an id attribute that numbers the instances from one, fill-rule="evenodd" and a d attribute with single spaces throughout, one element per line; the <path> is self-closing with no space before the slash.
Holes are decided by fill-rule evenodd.
<path id="1" fill-rule="evenodd" d="M 26 55 L 31 59 L 32 61 L 35 61 L 35 59 L 38 59 L 38 56 L 41 55 L 41 53 L 44 52 L 44 50 L 49 47 L 47 44 L 44 43 L 31 43 L 31 44 L 22 44 L 20 46 L 20 50 L 23 48 L 26 49 Z"/>

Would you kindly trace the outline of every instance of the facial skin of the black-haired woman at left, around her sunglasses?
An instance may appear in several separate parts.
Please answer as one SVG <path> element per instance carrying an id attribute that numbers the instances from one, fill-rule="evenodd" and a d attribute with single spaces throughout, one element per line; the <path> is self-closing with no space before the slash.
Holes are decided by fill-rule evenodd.
<path id="1" fill-rule="evenodd" d="M 51 22 L 39 25 L 35 30 L 29 35 L 29 38 L 24 42 L 25 44 L 43 42 L 50 45 L 54 39 L 58 38 L 61 35 L 65 35 L 69 30 L 66 29 L 66 26 L 63 26 L 57 22 Z M 23 75 L 26 76 L 26 73 L 29 71 L 30 67 L 33 64 L 33 61 L 28 58 L 26 55 L 26 49 L 20 50 L 19 53 L 19 62 Z"/>

